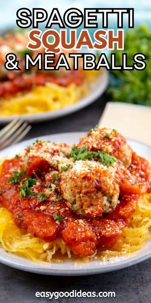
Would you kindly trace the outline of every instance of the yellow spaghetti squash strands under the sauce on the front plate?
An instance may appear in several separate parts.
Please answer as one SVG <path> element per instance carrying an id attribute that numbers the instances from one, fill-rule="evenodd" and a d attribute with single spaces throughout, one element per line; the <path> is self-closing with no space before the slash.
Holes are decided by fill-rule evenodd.
<path id="1" fill-rule="evenodd" d="M 100 255 L 103 259 L 117 257 L 141 249 L 151 237 L 149 230 L 151 230 L 151 194 L 145 194 L 140 197 L 130 224 L 123 229 L 117 244 L 106 250 L 99 248 L 98 257 Z M 70 248 L 63 239 L 58 238 L 55 241 L 47 242 L 41 238 L 32 237 L 27 231 L 15 225 L 11 213 L 3 207 L 0 207 L 0 241 L 6 251 L 35 262 L 51 262 L 59 249 L 62 255 L 66 254 L 69 258 L 71 257 Z M 88 258 L 84 261 L 87 262 Z"/>

